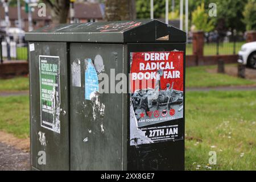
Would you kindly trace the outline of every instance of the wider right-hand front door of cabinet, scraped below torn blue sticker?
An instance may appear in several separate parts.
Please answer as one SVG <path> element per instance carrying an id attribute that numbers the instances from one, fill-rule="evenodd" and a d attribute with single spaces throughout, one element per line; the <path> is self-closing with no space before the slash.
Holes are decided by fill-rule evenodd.
<path id="1" fill-rule="evenodd" d="M 105 70 L 102 73 L 109 77 L 110 69 L 122 73 L 122 47 L 71 43 L 70 64 L 80 61 L 81 65 L 81 87 L 71 85 L 71 170 L 122 169 L 122 94 L 100 94 L 97 105 L 85 100 L 84 61 L 90 58 L 95 66 L 95 57 L 100 55 Z"/>

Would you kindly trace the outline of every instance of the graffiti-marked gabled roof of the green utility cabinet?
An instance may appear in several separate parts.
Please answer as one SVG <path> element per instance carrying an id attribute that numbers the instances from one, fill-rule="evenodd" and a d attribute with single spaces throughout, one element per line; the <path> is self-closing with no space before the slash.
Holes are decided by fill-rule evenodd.
<path id="1" fill-rule="evenodd" d="M 47 35 L 47 36 L 46 36 Z M 46 26 L 26 33 L 26 40 L 47 42 L 186 42 L 186 34 L 159 20 L 73 23 Z"/>

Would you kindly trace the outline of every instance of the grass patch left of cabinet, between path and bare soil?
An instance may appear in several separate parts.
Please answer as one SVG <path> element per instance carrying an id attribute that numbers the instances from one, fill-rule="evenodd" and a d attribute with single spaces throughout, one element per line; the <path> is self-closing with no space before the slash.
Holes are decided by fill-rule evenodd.
<path id="1" fill-rule="evenodd" d="M 0 130 L 14 134 L 18 138 L 29 136 L 28 96 L 0 97 Z"/>

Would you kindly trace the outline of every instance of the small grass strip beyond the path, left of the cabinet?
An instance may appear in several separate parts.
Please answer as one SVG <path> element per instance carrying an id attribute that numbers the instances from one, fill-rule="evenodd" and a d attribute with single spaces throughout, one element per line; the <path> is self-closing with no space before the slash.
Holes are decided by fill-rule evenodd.
<path id="1" fill-rule="evenodd" d="M 28 90 L 29 80 L 28 77 L 16 77 L 10 79 L 0 79 L 0 91 L 11 90 Z"/>

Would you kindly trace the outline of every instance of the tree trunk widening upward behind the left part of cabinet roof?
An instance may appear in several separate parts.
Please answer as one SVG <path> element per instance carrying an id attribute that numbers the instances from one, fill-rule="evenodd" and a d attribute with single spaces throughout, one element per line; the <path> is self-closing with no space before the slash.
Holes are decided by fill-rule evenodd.
<path id="1" fill-rule="evenodd" d="M 69 1 L 67 0 L 43 0 L 51 8 L 52 23 L 67 23 L 69 12 Z"/>

